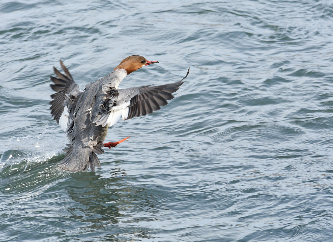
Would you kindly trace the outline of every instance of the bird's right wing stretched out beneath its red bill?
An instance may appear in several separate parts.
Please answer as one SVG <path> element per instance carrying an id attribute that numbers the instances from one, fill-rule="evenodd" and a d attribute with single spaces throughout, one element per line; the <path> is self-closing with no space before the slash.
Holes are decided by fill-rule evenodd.
<path id="1" fill-rule="evenodd" d="M 175 83 L 113 90 L 110 98 L 103 104 L 107 112 L 97 115 L 96 124 L 112 126 L 120 116 L 123 120 L 128 120 L 159 110 L 167 105 L 167 100 L 174 98 L 172 93 L 184 83 L 188 73 L 189 68 L 186 76 Z"/>

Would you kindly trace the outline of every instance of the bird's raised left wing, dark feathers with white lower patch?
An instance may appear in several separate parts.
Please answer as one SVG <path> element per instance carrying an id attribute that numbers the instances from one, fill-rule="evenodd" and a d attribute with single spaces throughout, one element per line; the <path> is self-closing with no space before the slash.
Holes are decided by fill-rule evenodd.
<path id="1" fill-rule="evenodd" d="M 57 78 L 51 76 L 51 80 L 54 84 L 51 84 L 50 86 L 56 91 L 56 93 L 51 95 L 53 100 L 50 102 L 50 109 L 52 116 L 54 116 L 53 119 L 57 121 L 64 131 L 66 131 L 69 112 L 72 108 L 70 106 L 74 103 L 75 98 L 80 91 L 79 86 L 74 82 L 64 63 L 61 60 L 59 62 L 65 74 L 60 73 L 55 67 L 53 67 Z"/>

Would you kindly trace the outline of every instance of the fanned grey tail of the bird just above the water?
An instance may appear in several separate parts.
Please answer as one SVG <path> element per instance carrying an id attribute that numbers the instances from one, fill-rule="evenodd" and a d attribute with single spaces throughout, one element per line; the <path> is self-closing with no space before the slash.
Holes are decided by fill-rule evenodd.
<path id="1" fill-rule="evenodd" d="M 72 144 L 67 144 L 67 148 L 63 149 L 66 152 L 65 158 L 59 163 L 59 166 L 70 171 L 87 171 L 90 167 L 92 171 L 95 167 L 101 167 L 101 162 L 96 154 L 103 154 L 102 149 L 104 144 L 98 143 L 92 149 L 80 148 L 76 149 Z"/>

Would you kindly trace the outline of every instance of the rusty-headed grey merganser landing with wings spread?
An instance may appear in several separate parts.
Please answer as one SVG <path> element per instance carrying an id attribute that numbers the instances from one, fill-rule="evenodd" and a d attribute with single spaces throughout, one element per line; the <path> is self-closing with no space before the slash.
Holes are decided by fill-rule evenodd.
<path id="1" fill-rule="evenodd" d="M 145 116 L 167 105 L 167 100 L 184 83 L 186 76 L 179 82 L 160 85 L 118 89 L 120 82 L 130 73 L 158 61 L 147 61 L 143 56 L 129 56 L 112 73 L 91 82 L 83 91 L 74 82 L 71 74 L 60 65 L 65 74 L 53 67 L 57 78 L 51 88 L 56 91 L 51 95 L 51 114 L 54 120 L 67 134 L 70 144 L 63 149 L 65 158 L 59 165 L 70 171 L 92 171 L 101 167 L 96 154 L 103 154 L 102 147 L 115 147 L 129 137 L 118 142 L 103 144 L 108 127 L 115 124 L 122 116 L 123 120 Z"/>

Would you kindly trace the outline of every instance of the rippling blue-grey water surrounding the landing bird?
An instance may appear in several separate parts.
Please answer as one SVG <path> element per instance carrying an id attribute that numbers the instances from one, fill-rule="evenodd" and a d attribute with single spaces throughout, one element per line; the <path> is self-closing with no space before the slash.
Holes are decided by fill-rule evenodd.
<path id="1" fill-rule="evenodd" d="M 0 241 L 332 241 L 331 1 L 64 2 L 0 2 Z M 160 63 L 121 88 L 190 74 L 61 170 L 52 66 L 84 88 L 133 54 Z"/>

